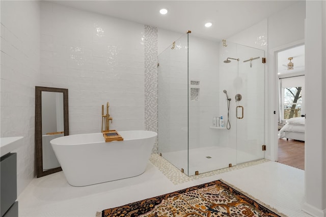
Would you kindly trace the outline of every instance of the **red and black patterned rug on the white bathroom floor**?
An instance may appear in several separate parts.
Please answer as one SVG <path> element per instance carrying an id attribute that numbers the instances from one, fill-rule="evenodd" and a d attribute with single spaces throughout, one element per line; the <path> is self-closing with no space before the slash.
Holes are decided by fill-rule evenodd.
<path id="1" fill-rule="evenodd" d="M 221 180 L 188 187 L 123 206 L 96 216 L 285 216 Z"/>

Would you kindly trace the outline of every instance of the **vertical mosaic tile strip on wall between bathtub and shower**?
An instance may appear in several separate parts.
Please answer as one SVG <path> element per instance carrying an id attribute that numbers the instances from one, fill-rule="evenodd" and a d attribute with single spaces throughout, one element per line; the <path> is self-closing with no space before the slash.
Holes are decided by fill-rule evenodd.
<path id="1" fill-rule="evenodd" d="M 145 129 L 157 132 L 157 28 L 145 25 Z M 152 152 L 157 153 L 157 139 Z"/>

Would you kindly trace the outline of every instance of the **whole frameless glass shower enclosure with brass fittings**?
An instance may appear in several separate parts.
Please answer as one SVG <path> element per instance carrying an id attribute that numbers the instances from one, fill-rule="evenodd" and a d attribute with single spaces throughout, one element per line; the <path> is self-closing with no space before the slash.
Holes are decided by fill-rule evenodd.
<path id="1" fill-rule="evenodd" d="M 262 58 L 264 50 L 189 33 L 164 50 L 158 56 L 161 156 L 188 176 L 264 158 Z"/>

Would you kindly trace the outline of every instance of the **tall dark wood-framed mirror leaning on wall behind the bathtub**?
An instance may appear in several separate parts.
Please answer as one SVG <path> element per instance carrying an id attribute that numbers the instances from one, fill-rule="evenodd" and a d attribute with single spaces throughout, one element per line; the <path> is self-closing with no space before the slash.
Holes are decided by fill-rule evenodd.
<path id="1" fill-rule="evenodd" d="M 62 170 L 50 141 L 68 134 L 68 89 L 35 87 L 35 147 L 38 178 Z"/>

